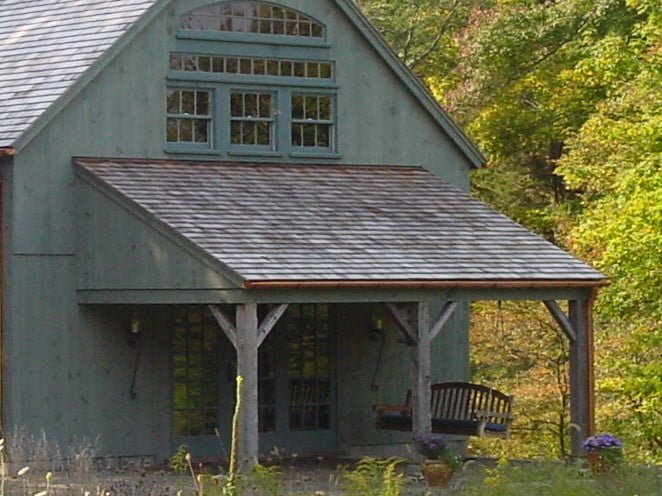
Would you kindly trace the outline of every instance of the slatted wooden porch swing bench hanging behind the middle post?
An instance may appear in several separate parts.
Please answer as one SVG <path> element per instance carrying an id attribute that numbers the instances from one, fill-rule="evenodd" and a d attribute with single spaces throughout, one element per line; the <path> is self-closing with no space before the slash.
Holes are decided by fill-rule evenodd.
<path id="1" fill-rule="evenodd" d="M 431 387 L 432 432 L 459 436 L 510 435 L 513 398 L 496 389 L 468 382 L 441 382 Z M 411 391 L 402 405 L 374 405 L 375 427 L 412 430 Z"/>

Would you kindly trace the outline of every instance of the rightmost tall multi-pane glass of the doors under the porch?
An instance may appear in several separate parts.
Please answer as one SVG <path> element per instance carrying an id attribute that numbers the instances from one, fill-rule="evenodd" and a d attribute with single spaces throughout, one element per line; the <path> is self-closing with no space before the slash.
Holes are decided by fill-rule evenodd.
<path id="1" fill-rule="evenodd" d="M 297 305 L 287 317 L 290 430 L 331 428 L 329 305 Z"/>

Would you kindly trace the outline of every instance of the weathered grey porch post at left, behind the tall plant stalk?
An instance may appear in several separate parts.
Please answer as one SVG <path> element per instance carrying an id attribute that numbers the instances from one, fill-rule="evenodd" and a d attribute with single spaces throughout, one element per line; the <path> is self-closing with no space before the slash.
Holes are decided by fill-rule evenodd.
<path id="1" fill-rule="evenodd" d="M 243 378 L 237 432 L 237 458 L 240 473 L 250 472 L 258 457 L 258 320 L 257 304 L 237 305 L 237 374 Z"/>

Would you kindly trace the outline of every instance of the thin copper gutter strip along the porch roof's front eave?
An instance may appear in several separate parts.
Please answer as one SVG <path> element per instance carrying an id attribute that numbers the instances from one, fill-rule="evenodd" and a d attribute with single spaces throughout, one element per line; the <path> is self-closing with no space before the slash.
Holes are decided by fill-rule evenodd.
<path id="1" fill-rule="evenodd" d="M 597 280 L 529 280 L 529 281 L 413 281 L 413 280 L 330 280 L 330 281 L 246 281 L 246 289 L 543 289 L 596 288 L 606 286 Z"/>

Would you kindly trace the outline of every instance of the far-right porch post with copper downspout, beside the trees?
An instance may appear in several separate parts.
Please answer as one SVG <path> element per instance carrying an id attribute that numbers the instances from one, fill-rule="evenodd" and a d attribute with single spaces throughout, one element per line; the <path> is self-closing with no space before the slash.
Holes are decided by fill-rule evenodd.
<path id="1" fill-rule="evenodd" d="M 570 342 L 570 439 L 573 456 L 582 456 L 582 441 L 595 433 L 593 298 L 568 303 L 568 318 L 576 335 Z"/>

